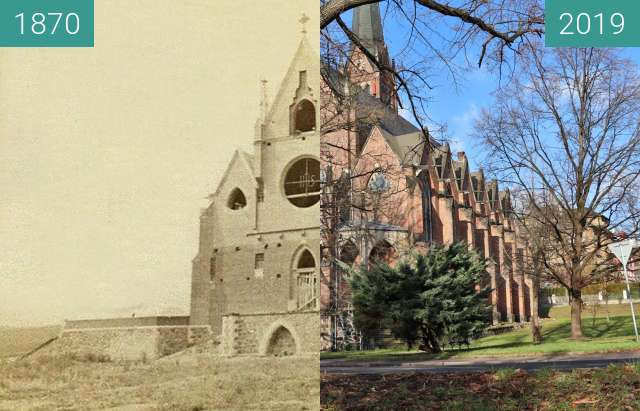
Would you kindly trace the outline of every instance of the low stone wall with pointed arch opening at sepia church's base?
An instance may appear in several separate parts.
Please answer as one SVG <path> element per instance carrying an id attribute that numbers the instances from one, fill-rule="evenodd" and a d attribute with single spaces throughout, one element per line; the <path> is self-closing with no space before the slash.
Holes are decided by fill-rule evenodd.
<path id="1" fill-rule="evenodd" d="M 317 311 L 230 314 L 223 317 L 221 352 L 224 355 L 270 355 L 281 348 L 280 337 L 290 334 L 295 343 L 285 355 L 307 355 L 320 350 L 320 326 Z M 286 332 L 283 333 L 283 329 Z"/>

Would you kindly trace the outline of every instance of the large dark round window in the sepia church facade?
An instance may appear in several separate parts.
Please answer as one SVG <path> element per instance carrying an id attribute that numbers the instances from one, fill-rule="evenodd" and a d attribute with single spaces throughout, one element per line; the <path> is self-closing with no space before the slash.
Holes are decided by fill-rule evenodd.
<path id="1" fill-rule="evenodd" d="M 320 201 L 320 162 L 314 158 L 296 161 L 284 179 L 284 194 L 296 207 L 311 207 Z"/>

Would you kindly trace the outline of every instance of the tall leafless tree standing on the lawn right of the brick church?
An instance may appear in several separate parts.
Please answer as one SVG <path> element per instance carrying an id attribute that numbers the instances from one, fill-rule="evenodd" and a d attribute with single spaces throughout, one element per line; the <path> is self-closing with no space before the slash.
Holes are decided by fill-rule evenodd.
<path id="1" fill-rule="evenodd" d="M 533 274 L 568 290 L 571 337 L 579 339 L 582 289 L 612 273 L 612 234 L 640 228 L 640 77 L 610 49 L 531 42 L 526 60 L 477 134 L 492 171 L 525 194 L 524 230 L 544 233 Z"/>

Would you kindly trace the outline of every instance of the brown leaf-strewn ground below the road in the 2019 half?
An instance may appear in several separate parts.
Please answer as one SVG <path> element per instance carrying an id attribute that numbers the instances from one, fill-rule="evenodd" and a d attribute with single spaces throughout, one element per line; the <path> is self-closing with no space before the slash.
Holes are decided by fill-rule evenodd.
<path id="1" fill-rule="evenodd" d="M 323 410 L 638 410 L 640 367 L 560 373 L 323 375 Z"/>

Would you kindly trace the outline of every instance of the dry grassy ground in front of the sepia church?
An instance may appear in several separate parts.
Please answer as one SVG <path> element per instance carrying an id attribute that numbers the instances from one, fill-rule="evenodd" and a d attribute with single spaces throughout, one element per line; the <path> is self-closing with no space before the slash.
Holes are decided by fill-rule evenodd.
<path id="1" fill-rule="evenodd" d="M 0 362 L 0 410 L 318 410 L 319 358 L 206 354 L 149 363 Z"/>

